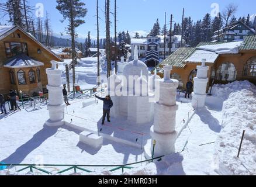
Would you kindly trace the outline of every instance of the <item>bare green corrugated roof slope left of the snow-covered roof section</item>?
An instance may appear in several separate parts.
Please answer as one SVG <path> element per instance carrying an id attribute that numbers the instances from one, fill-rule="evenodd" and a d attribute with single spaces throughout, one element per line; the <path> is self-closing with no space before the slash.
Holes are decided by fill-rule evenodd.
<path id="1" fill-rule="evenodd" d="M 172 65 L 173 67 L 185 67 L 184 60 L 191 56 L 191 54 L 195 51 L 195 47 L 181 47 L 174 53 L 172 53 L 169 57 L 167 57 L 164 61 L 162 61 L 161 66 Z"/>

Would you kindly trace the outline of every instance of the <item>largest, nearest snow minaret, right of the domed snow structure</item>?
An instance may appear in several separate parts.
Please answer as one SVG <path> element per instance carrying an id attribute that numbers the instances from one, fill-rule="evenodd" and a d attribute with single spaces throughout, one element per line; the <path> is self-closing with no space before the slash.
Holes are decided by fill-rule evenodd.
<path id="1" fill-rule="evenodd" d="M 175 153 L 175 141 L 177 138 L 176 112 L 176 95 L 179 82 L 176 79 L 170 79 L 171 66 L 164 67 L 164 79 L 159 81 L 160 97 L 155 103 L 154 125 L 150 129 L 152 137 L 151 154 L 153 153 L 153 141 L 156 141 L 154 157 L 169 155 Z"/>

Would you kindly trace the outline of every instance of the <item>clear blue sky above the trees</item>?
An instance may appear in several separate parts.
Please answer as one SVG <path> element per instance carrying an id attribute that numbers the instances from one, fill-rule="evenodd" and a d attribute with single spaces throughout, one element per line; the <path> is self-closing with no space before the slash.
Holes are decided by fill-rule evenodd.
<path id="1" fill-rule="evenodd" d="M 35 6 L 37 3 L 42 3 L 44 5 L 44 12 L 48 12 L 51 19 L 51 26 L 55 33 L 64 32 L 64 28 L 67 22 L 60 23 L 62 15 L 56 9 L 56 1 L 38 1 L 38 0 L 28 0 L 30 5 Z M 88 9 L 87 16 L 85 19 L 85 24 L 77 28 L 77 33 L 79 37 L 85 37 L 88 31 L 91 31 L 92 37 L 96 36 L 96 0 L 81 0 L 85 2 Z M 99 0 L 100 6 L 100 16 L 101 20 L 101 36 L 105 33 L 105 24 L 103 17 L 105 0 Z M 119 20 L 117 22 L 117 30 L 129 30 L 129 32 L 139 31 L 140 33 L 148 32 L 153 26 L 155 20 L 159 18 L 161 27 L 164 25 L 164 12 L 167 12 L 167 19 L 169 19 L 171 13 L 174 15 L 175 22 L 181 22 L 182 19 L 182 8 L 185 8 L 185 16 L 191 16 L 193 20 L 202 19 L 206 13 L 211 13 L 211 5 L 213 3 L 219 4 L 220 11 L 223 10 L 224 6 L 233 2 L 238 5 L 237 17 L 247 16 L 256 13 L 256 1 L 253 0 L 117 0 L 117 13 Z M 110 0 L 112 12 L 114 9 L 114 1 Z M 45 13 L 44 13 L 45 15 Z M 112 18 L 112 28 L 113 28 L 113 16 Z M 7 19 L 7 18 L 5 18 Z M 1 20 L 1 23 L 4 23 Z M 65 33 L 65 32 L 64 32 Z M 113 35 L 113 29 L 112 29 Z"/>

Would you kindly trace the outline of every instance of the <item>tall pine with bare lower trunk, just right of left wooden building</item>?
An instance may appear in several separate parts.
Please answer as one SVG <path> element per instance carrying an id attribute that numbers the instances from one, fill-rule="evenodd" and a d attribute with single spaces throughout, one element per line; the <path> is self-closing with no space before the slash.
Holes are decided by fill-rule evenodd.
<path id="1" fill-rule="evenodd" d="M 80 0 L 57 0 L 56 9 L 63 15 L 63 19 L 68 20 L 68 34 L 71 35 L 72 46 L 72 78 L 73 78 L 73 90 L 75 91 L 75 65 L 77 64 L 77 57 L 75 51 L 75 28 L 85 23 L 84 18 L 87 15 L 87 9 L 84 8 L 85 4 Z M 68 82 L 69 84 L 69 82 Z"/>

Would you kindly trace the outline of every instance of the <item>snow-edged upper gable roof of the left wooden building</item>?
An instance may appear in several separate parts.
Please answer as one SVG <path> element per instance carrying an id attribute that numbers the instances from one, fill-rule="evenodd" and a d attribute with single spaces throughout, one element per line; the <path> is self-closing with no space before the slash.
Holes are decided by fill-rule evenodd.
<path id="1" fill-rule="evenodd" d="M 1 29 L 2 28 L 2 29 Z M 43 44 L 41 44 L 39 41 L 37 41 L 31 34 L 27 33 L 25 30 L 23 30 L 22 28 L 20 28 L 19 26 L 0 26 L 0 30 L 2 30 L 2 32 L 0 32 L 0 40 L 4 39 L 5 37 L 9 36 L 9 34 L 15 32 L 16 30 L 20 30 L 22 33 L 24 33 L 27 37 L 29 37 L 30 39 L 32 39 L 34 42 L 36 42 L 37 44 L 39 44 L 39 46 L 43 47 L 44 50 L 48 51 L 49 53 L 53 54 L 53 56 L 55 56 L 56 58 L 58 58 L 58 60 L 63 61 L 60 57 L 57 56 L 57 54 L 53 53 L 53 51 L 51 51 L 50 49 L 48 49 L 46 46 L 44 46 Z"/>

